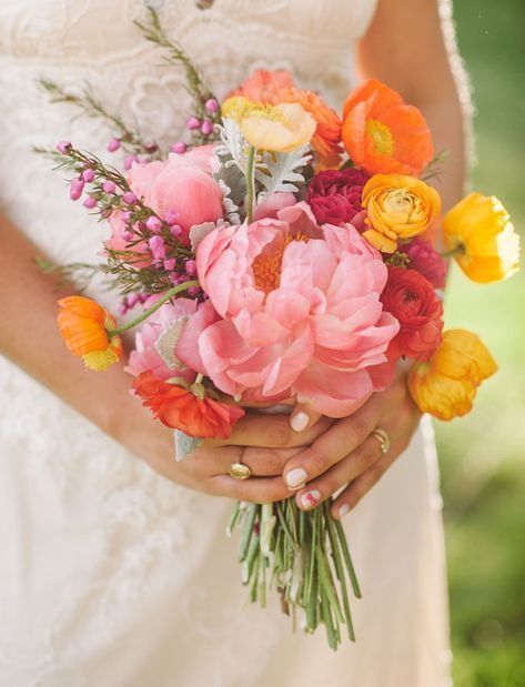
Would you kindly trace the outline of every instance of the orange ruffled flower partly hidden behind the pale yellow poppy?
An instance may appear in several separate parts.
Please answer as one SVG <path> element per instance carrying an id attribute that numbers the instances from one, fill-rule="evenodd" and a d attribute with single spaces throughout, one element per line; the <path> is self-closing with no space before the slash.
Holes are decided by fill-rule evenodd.
<path id="1" fill-rule="evenodd" d="M 341 118 L 329 108 L 321 98 L 313 91 L 302 91 L 296 88 L 287 88 L 279 91 L 273 103 L 299 102 L 316 122 L 315 134 L 312 138 L 312 145 L 325 166 L 333 166 L 341 162 Z"/>

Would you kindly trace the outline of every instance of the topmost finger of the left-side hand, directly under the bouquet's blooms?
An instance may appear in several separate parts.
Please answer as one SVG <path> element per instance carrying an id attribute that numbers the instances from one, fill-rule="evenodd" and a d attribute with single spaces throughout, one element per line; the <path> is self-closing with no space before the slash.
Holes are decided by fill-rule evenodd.
<path id="1" fill-rule="evenodd" d="M 290 426 L 287 415 L 256 415 L 246 413 L 235 424 L 232 435 L 225 441 L 209 443 L 209 446 L 256 446 L 265 448 L 294 448 L 310 446 L 333 424 L 322 417 L 309 430 L 297 434 Z"/>

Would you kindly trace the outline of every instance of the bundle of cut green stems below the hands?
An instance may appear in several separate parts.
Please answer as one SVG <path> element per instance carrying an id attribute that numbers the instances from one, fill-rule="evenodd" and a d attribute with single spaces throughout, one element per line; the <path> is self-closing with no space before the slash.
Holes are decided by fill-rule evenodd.
<path id="1" fill-rule="evenodd" d="M 349 596 L 353 592 L 361 598 L 361 589 L 345 533 L 332 518 L 330 502 L 309 512 L 301 511 L 293 498 L 264 505 L 240 502 L 228 533 L 235 527 L 241 532 L 241 579 L 253 603 L 264 608 L 274 588 L 294 625 L 299 608 L 307 633 L 324 624 L 332 649 L 342 641 L 343 625 L 355 641 Z"/>

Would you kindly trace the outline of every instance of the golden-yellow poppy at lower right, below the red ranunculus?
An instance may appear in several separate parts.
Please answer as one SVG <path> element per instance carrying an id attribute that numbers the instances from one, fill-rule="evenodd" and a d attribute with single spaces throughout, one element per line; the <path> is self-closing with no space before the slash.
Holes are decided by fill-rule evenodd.
<path id="1" fill-rule="evenodd" d="M 408 390 L 422 413 L 452 420 L 472 410 L 479 384 L 497 371 L 478 336 L 448 330 L 428 363 L 416 363 L 408 373 Z"/>

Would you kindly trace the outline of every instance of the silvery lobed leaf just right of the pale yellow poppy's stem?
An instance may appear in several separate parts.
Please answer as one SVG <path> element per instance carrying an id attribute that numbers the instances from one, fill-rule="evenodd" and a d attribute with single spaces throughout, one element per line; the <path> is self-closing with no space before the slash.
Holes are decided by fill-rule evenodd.
<path id="1" fill-rule="evenodd" d="M 272 193 L 296 193 L 297 184 L 305 183 L 300 170 L 312 159 L 309 151 L 310 147 L 303 145 L 290 153 L 263 152 L 255 172 L 255 181 L 263 186 L 258 202 Z"/>

